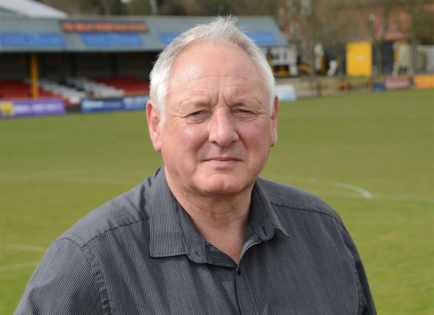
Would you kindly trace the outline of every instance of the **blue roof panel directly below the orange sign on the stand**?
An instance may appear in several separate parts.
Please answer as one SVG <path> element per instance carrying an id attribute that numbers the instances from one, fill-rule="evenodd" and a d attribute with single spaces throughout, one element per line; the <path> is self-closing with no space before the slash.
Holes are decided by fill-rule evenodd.
<path id="1" fill-rule="evenodd" d="M 80 33 L 88 47 L 140 47 L 143 42 L 138 33 Z"/>

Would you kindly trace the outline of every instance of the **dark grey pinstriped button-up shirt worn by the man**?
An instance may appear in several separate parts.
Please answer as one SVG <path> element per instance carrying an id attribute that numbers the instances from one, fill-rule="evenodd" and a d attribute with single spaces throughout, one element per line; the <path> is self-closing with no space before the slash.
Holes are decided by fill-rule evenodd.
<path id="1" fill-rule="evenodd" d="M 16 314 L 376 314 L 355 245 L 313 194 L 258 178 L 240 263 L 154 176 L 49 247 Z"/>

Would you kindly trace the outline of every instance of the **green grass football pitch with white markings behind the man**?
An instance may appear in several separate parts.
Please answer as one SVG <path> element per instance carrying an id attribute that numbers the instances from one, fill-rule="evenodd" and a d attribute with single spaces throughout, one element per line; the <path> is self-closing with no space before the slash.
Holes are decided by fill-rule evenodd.
<path id="1" fill-rule="evenodd" d="M 282 103 L 262 172 L 340 214 L 379 314 L 434 313 L 433 105 L 433 90 Z M 145 111 L 3 120 L 0 135 L 0 314 L 11 314 L 50 243 L 162 159 Z"/>

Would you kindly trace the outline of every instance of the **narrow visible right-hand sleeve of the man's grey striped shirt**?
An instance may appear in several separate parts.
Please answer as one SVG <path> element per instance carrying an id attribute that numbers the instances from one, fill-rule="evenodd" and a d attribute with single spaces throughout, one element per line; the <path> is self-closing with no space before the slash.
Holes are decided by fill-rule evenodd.
<path id="1" fill-rule="evenodd" d="M 371 290 L 369 289 L 368 278 L 366 277 L 365 268 L 363 268 L 362 259 L 360 258 L 357 248 L 355 247 L 354 241 L 349 235 L 345 226 L 341 226 L 342 237 L 346 247 L 349 249 L 351 256 L 355 262 L 355 269 L 358 275 L 358 280 L 360 282 L 360 286 L 363 294 L 363 308 L 362 315 L 377 315 L 377 311 L 375 309 L 374 300 L 372 299 Z"/>

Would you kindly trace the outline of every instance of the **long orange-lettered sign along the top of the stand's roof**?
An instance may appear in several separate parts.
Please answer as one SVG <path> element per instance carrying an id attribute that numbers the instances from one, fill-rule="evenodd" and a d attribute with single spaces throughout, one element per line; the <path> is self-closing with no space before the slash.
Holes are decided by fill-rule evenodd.
<path id="1" fill-rule="evenodd" d="M 63 31 L 65 32 L 146 32 L 148 27 L 143 22 L 80 22 L 67 21 L 60 22 Z"/>

